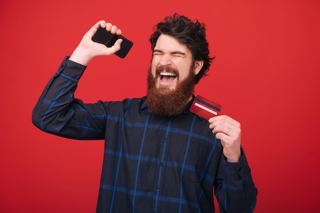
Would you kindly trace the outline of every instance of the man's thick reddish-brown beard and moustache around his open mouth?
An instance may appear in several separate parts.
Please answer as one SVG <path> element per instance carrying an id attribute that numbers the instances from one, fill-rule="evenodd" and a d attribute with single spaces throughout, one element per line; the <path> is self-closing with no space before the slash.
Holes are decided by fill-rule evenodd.
<path id="1" fill-rule="evenodd" d="M 156 88 L 156 81 L 161 71 L 167 70 L 176 74 L 178 78 L 176 88 L 169 89 L 166 86 Z M 157 116 L 172 117 L 180 115 L 186 109 L 190 97 L 194 92 L 195 74 L 193 66 L 190 67 L 189 75 L 179 81 L 178 71 L 171 68 L 158 67 L 155 76 L 151 73 L 151 67 L 148 70 L 148 90 L 147 90 L 147 106 L 150 112 Z"/>

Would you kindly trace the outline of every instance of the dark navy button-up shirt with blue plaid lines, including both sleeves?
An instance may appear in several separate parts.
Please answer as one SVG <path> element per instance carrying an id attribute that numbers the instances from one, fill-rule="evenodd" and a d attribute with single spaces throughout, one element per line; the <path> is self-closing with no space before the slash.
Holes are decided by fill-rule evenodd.
<path id="1" fill-rule="evenodd" d="M 257 190 L 242 150 L 228 163 L 209 122 L 190 113 L 150 114 L 146 98 L 83 103 L 74 98 L 85 66 L 67 60 L 34 110 L 45 132 L 105 140 L 97 212 L 252 212 Z"/>

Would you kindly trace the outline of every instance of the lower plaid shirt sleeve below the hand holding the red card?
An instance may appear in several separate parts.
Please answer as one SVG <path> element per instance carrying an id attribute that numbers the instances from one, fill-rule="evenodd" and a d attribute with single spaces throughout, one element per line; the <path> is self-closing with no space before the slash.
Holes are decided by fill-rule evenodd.
<path id="1" fill-rule="evenodd" d="M 256 206 L 258 191 L 242 148 L 241 151 L 238 163 L 223 159 L 224 178 L 215 185 L 220 212 L 253 212 Z"/>

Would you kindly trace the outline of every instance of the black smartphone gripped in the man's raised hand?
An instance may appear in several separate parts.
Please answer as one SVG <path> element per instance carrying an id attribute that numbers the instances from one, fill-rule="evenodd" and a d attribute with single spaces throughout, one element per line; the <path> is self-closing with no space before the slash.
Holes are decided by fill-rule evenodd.
<path id="1" fill-rule="evenodd" d="M 131 47 L 133 45 L 132 41 L 126 39 L 125 37 L 123 37 L 121 35 L 118 36 L 116 34 L 111 34 L 109 31 L 106 31 L 105 28 L 101 28 L 101 26 L 99 26 L 95 35 L 92 37 L 92 40 L 94 42 L 104 44 L 107 47 L 111 47 L 120 38 L 122 39 L 121 49 L 119 51 L 115 52 L 115 54 L 123 59 L 124 57 L 126 57 L 129 50 L 131 49 Z"/>

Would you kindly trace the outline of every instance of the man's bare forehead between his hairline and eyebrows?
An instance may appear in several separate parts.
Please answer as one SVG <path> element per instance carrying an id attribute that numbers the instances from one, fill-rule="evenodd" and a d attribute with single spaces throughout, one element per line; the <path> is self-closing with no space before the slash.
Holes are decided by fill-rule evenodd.
<path id="1" fill-rule="evenodd" d="M 164 34 L 159 36 L 154 49 L 165 53 L 181 51 L 185 54 L 191 54 L 191 50 L 185 44 L 181 44 L 176 38 Z"/>

